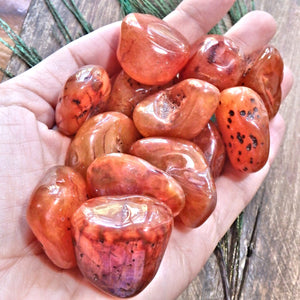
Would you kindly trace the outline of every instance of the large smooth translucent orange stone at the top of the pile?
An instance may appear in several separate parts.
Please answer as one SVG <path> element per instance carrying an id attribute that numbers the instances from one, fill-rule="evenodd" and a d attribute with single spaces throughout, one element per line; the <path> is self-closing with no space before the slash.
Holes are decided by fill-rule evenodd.
<path id="1" fill-rule="evenodd" d="M 190 56 L 186 38 L 165 21 L 131 13 L 121 24 L 117 57 L 123 70 L 147 85 L 171 81 Z"/>

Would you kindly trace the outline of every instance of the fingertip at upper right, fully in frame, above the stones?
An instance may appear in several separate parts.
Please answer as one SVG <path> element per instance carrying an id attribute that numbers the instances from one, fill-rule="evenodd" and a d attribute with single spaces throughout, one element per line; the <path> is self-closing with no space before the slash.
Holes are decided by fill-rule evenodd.
<path id="1" fill-rule="evenodd" d="M 252 11 L 225 34 L 247 55 L 268 44 L 276 33 L 274 18 L 264 11 Z"/>

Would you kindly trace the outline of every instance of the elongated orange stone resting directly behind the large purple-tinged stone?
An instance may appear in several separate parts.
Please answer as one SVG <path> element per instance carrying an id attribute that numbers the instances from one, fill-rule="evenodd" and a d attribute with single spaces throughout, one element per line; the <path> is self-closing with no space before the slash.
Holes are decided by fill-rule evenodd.
<path id="1" fill-rule="evenodd" d="M 151 196 L 167 204 L 174 216 L 185 203 L 184 192 L 174 178 L 141 158 L 122 153 L 96 158 L 87 170 L 87 188 L 90 198 Z"/>

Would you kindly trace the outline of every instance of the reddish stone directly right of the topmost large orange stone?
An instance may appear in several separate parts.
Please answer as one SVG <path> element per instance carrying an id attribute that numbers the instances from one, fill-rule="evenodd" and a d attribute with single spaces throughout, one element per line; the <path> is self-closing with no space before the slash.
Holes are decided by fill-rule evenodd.
<path id="1" fill-rule="evenodd" d="M 196 45 L 197 52 L 180 73 L 180 78 L 198 78 L 220 90 L 236 86 L 245 69 L 240 48 L 228 37 L 213 34 L 204 35 Z"/>

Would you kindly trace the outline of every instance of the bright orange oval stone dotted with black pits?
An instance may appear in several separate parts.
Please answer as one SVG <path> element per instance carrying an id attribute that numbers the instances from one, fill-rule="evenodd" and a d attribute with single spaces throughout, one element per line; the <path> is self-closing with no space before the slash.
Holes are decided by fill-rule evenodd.
<path id="1" fill-rule="evenodd" d="M 259 95 L 247 87 L 224 90 L 216 118 L 232 166 L 245 173 L 260 170 L 269 156 L 270 133 Z"/>

